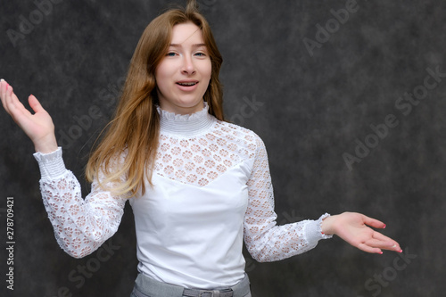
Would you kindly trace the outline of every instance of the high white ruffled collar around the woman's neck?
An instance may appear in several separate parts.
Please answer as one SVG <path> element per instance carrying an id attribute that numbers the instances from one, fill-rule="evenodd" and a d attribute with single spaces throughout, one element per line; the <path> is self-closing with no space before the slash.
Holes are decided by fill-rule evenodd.
<path id="1" fill-rule="evenodd" d="M 205 132 L 215 122 L 215 118 L 209 114 L 209 106 L 206 102 L 203 102 L 201 111 L 192 114 L 163 111 L 160 106 L 157 109 L 160 114 L 161 133 L 194 136 Z"/>

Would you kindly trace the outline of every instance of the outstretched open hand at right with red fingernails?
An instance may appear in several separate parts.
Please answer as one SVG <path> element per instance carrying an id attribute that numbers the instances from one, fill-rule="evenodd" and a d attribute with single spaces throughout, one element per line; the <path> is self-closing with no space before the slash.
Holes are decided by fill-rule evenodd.
<path id="1" fill-rule="evenodd" d="M 324 234 L 338 235 L 364 252 L 383 253 L 382 250 L 402 252 L 399 243 L 371 227 L 384 228 L 385 224 L 357 212 L 343 212 L 322 221 Z"/>

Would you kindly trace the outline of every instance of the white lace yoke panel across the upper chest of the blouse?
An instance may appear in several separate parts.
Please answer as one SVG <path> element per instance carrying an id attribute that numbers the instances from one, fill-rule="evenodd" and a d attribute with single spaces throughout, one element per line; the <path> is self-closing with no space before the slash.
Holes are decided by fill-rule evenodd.
<path id="1" fill-rule="evenodd" d="M 160 136 L 154 172 L 183 184 L 206 186 L 227 169 L 254 157 L 256 144 L 249 130 L 216 122 L 202 136 Z"/>

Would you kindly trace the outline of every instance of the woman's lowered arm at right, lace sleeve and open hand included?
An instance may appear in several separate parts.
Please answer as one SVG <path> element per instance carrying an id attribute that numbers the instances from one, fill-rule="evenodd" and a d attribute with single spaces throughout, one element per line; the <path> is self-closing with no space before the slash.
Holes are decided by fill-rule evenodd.
<path id="1" fill-rule="evenodd" d="M 258 139 L 258 149 L 248 181 L 249 204 L 244 221 L 244 241 L 252 258 L 259 261 L 282 260 L 307 252 L 320 239 L 338 235 L 364 252 L 382 253 L 382 249 L 401 252 L 400 244 L 368 226 L 384 228 L 383 222 L 359 213 L 321 216 L 318 220 L 277 226 L 274 195 L 264 144 Z"/>

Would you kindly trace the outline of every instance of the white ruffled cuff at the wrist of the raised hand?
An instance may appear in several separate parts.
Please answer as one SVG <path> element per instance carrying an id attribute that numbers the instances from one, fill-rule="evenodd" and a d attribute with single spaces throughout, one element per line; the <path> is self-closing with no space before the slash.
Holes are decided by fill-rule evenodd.
<path id="1" fill-rule="evenodd" d="M 67 170 L 62 159 L 62 147 L 60 146 L 52 153 L 37 152 L 33 156 L 38 162 L 42 179 L 61 177 Z"/>

